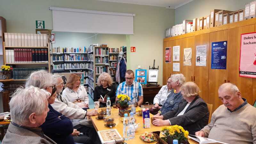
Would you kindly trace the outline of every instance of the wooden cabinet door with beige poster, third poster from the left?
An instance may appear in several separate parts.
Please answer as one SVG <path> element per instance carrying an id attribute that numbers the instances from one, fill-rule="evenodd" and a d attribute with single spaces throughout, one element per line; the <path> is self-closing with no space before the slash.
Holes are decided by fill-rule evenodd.
<path id="1" fill-rule="evenodd" d="M 180 59 L 180 65 L 181 65 L 181 73 L 186 77 L 186 82 L 193 81 L 193 74 L 194 74 L 194 65 L 195 65 L 195 55 L 194 55 L 194 42 L 195 37 L 187 37 L 182 38 L 182 48 L 181 48 L 181 59 Z M 184 66 L 184 49 L 191 48 L 191 66 Z"/>

